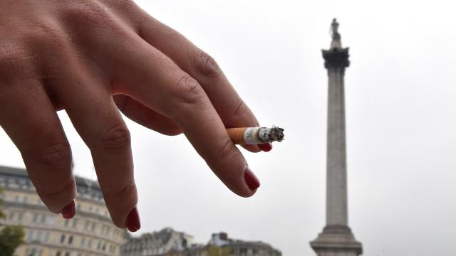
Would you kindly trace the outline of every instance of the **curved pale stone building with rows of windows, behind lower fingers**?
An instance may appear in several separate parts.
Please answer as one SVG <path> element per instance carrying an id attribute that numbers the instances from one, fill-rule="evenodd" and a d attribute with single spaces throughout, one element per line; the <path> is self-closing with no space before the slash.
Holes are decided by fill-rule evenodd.
<path id="1" fill-rule="evenodd" d="M 127 233 L 116 228 L 98 183 L 76 177 L 76 216 L 65 220 L 51 213 L 36 194 L 25 169 L 0 166 L 1 206 L 6 225 L 22 225 L 25 243 L 18 256 L 120 255 Z"/>

